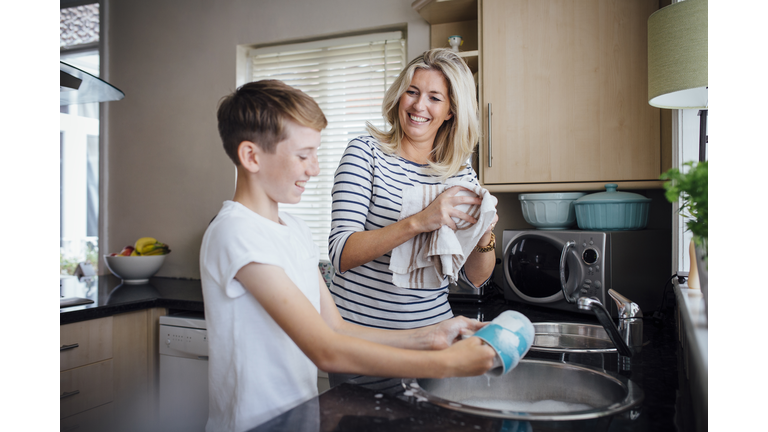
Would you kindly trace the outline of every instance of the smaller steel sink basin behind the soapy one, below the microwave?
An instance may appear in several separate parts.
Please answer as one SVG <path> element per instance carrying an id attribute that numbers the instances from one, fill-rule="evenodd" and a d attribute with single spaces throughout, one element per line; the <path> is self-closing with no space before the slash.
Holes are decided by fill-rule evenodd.
<path id="1" fill-rule="evenodd" d="M 603 326 L 574 323 L 533 323 L 532 351 L 567 353 L 616 352 Z"/>

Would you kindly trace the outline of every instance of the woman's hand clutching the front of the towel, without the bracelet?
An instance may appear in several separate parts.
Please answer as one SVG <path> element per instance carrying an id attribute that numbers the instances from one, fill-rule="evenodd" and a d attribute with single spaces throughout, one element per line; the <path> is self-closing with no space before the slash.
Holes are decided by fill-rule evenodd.
<path id="1" fill-rule="evenodd" d="M 470 194 L 457 196 L 462 191 L 467 191 Z M 438 195 L 427 208 L 411 217 L 415 218 L 420 232 L 436 231 L 443 225 L 447 225 L 455 231 L 457 226 L 454 218 L 467 221 L 470 224 L 477 222 L 477 218 L 468 215 L 457 207 L 480 205 L 482 203 L 483 200 L 471 190 L 462 186 L 453 186 Z"/>

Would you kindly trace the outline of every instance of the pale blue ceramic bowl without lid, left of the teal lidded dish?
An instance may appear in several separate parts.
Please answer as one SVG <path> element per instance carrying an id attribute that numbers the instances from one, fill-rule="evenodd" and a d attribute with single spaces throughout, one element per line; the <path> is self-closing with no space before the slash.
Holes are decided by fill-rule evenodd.
<path id="1" fill-rule="evenodd" d="M 576 222 L 573 203 L 583 192 L 550 192 L 520 194 L 523 218 L 538 229 L 568 229 Z"/>

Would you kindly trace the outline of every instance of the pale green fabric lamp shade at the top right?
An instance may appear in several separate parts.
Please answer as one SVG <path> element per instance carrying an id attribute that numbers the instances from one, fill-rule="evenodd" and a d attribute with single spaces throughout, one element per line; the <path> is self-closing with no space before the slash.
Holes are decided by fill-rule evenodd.
<path id="1" fill-rule="evenodd" d="M 707 108 L 707 0 L 685 0 L 648 18 L 648 103 Z"/>

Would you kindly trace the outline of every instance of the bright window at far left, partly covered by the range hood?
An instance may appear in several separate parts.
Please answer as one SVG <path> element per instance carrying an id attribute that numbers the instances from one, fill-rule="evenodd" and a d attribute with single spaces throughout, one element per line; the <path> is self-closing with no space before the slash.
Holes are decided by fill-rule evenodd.
<path id="1" fill-rule="evenodd" d="M 99 76 L 99 4 L 60 9 L 61 61 Z M 72 274 L 99 263 L 99 104 L 60 107 L 60 261 Z"/>

